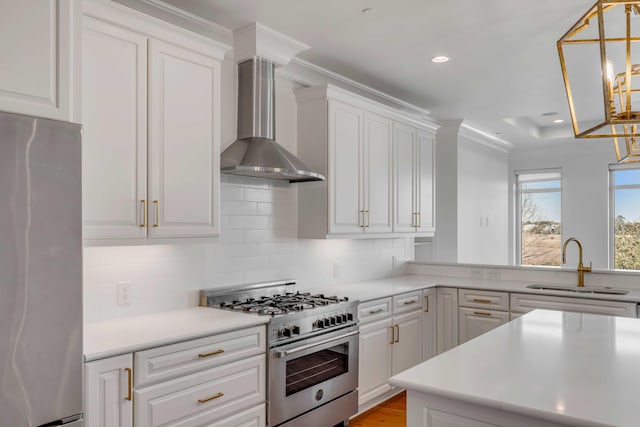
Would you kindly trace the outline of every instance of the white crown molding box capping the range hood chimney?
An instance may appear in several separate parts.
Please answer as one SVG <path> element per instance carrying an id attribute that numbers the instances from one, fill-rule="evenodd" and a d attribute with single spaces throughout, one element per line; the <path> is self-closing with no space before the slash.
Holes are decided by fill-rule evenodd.
<path id="1" fill-rule="evenodd" d="M 309 49 L 311 46 L 258 22 L 233 32 L 233 55 L 238 63 L 259 56 L 283 66 L 295 55 Z"/>

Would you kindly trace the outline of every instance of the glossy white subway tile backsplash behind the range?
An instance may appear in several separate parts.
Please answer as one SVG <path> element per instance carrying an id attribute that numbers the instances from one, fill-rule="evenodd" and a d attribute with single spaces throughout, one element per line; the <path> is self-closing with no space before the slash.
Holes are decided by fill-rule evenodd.
<path id="1" fill-rule="evenodd" d="M 303 289 L 390 276 L 414 258 L 411 238 L 297 239 L 296 185 L 304 184 L 223 175 L 219 238 L 85 247 L 85 322 L 195 306 L 203 288 L 293 278 Z M 127 306 L 118 305 L 119 282 L 130 282 Z"/>

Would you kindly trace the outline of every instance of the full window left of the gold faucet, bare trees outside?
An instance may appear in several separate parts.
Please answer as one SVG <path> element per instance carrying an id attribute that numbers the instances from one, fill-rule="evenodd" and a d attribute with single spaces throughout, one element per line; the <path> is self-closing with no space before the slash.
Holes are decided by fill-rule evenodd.
<path id="1" fill-rule="evenodd" d="M 559 266 L 562 246 L 560 171 L 516 172 L 518 263 Z"/>

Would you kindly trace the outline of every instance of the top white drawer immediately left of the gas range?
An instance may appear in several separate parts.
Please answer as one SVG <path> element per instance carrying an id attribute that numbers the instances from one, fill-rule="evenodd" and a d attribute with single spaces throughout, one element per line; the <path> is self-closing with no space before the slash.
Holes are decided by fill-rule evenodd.
<path id="1" fill-rule="evenodd" d="M 134 354 L 136 387 L 264 353 L 264 326 L 156 347 Z"/>

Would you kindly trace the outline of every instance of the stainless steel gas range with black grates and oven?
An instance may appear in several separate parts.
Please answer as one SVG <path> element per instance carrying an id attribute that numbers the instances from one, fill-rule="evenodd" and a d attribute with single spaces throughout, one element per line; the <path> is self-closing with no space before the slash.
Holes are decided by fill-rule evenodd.
<path id="1" fill-rule="evenodd" d="M 204 290 L 200 305 L 270 316 L 270 427 L 347 425 L 357 412 L 357 301 L 298 292 L 287 280 Z"/>

